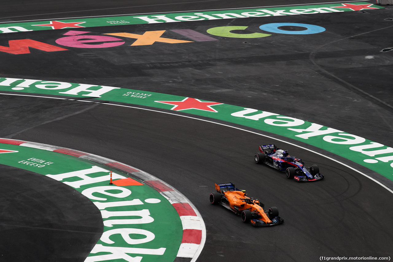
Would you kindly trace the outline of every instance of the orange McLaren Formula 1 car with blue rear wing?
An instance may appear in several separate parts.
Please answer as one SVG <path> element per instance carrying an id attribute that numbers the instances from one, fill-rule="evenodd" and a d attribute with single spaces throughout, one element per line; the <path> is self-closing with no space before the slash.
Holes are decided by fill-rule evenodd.
<path id="1" fill-rule="evenodd" d="M 210 194 L 210 203 L 221 204 L 240 214 L 243 222 L 250 222 L 254 226 L 269 226 L 284 223 L 278 216 L 277 207 L 270 207 L 264 210 L 263 203 L 258 199 L 248 197 L 246 190 L 239 190 L 232 183 L 215 184 L 216 191 Z"/>

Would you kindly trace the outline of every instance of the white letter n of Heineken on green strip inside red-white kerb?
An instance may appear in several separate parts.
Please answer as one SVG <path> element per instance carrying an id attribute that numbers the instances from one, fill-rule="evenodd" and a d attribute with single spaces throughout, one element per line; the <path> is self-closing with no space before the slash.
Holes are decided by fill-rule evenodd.
<path id="1" fill-rule="evenodd" d="M 101 216 L 103 218 L 110 218 L 112 216 L 140 216 L 141 218 L 135 219 L 112 219 L 105 220 L 104 225 L 106 227 L 113 227 L 113 225 L 128 225 L 128 224 L 147 224 L 154 221 L 154 218 L 150 216 L 149 209 L 142 209 L 136 211 L 107 211 L 101 210 Z"/>

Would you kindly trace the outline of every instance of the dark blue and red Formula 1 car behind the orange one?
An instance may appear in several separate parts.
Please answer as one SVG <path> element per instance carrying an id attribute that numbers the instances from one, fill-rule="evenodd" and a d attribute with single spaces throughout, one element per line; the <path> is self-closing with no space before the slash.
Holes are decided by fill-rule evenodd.
<path id="1" fill-rule="evenodd" d="M 261 153 L 254 155 L 255 163 L 267 164 L 277 170 L 285 171 L 288 179 L 297 181 L 316 181 L 325 176 L 319 172 L 317 165 L 306 167 L 301 159 L 290 156 L 287 150 L 277 148 L 275 145 L 259 146 Z"/>

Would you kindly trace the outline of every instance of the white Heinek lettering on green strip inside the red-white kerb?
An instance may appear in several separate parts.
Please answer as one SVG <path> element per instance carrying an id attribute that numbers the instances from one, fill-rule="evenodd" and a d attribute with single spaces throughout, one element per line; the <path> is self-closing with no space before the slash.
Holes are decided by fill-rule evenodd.
<path id="1" fill-rule="evenodd" d="M 37 162 L 44 160 L 31 158 L 29 161 L 32 162 L 21 162 L 28 162 L 37 165 Z M 46 163 L 49 164 L 52 162 Z M 58 181 L 62 181 L 65 184 L 73 186 L 74 188 L 79 188 L 82 185 L 108 181 L 108 172 L 109 171 L 105 168 L 92 166 L 91 168 L 84 170 L 67 172 L 58 175 L 50 174 L 47 176 Z M 100 175 L 100 173 L 103 175 L 97 177 L 97 175 Z M 91 176 L 94 176 L 94 178 Z M 68 182 L 70 179 L 75 180 L 75 177 L 80 178 L 81 180 Z M 125 177 L 112 172 L 112 179 L 113 178 L 124 179 Z M 164 247 L 157 249 L 140 247 L 140 244 L 145 244 L 154 240 L 155 234 L 145 229 L 133 228 L 142 226 L 149 227 L 149 223 L 154 221 L 154 218 L 151 216 L 149 209 L 133 209 L 140 209 L 138 205 L 145 205 L 143 201 L 146 203 L 160 203 L 160 199 L 149 198 L 143 201 L 140 199 L 127 200 L 131 195 L 131 190 L 129 188 L 117 185 L 93 186 L 84 189 L 81 193 L 89 199 L 103 201 L 96 201 L 93 203 L 100 210 L 101 216 L 103 218 L 103 224 L 105 226 L 100 240 L 103 243 L 108 244 L 108 246 L 96 244 L 93 250 L 90 252 L 90 256 L 84 260 L 85 262 L 99 262 L 108 260 L 140 262 L 144 256 L 132 256 L 132 254 L 163 255 L 165 253 L 166 248 Z M 145 205 L 144 207 L 148 207 L 148 205 Z M 105 210 L 106 208 L 110 210 Z M 110 227 L 112 227 L 112 229 L 108 229 Z M 129 245 L 139 246 L 138 248 L 124 247 L 125 242 Z M 105 255 L 95 255 L 97 253 L 104 253 Z"/>

